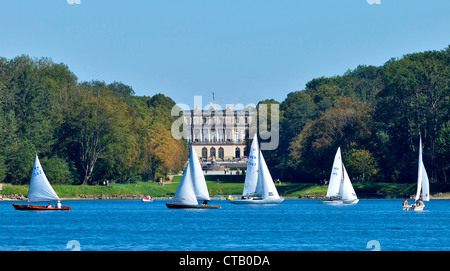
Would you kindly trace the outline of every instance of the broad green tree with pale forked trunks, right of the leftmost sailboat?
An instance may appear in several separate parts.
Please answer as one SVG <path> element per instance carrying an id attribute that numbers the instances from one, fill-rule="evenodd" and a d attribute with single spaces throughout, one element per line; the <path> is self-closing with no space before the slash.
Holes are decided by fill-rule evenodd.
<path id="1" fill-rule="evenodd" d="M 81 86 L 69 97 L 60 142 L 66 154 L 77 161 L 82 184 L 90 184 L 98 159 L 121 134 L 125 104 L 108 95 L 108 90 Z M 73 152 L 75 150 L 75 152 Z"/>

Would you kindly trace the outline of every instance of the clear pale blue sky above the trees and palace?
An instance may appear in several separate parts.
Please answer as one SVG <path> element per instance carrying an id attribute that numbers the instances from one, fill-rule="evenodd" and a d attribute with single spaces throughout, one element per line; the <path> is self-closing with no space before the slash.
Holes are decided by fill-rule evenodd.
<path id="1" fill-rule="evenodd" d="M 80 4 L 68 4 L 68 2 Z M 2 0 L 0 56 L 192 106 L 283 101 L 315 77 L 450 44 L 449 0 Z"/>

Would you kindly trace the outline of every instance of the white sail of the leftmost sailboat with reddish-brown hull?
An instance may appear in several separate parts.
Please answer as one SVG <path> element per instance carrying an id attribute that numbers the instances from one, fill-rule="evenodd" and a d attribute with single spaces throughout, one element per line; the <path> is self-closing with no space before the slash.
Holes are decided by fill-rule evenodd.
<path id="1" fill-rule="evenodd" d="M 28 191 L 28 202 L 56 201 L 59 200 L 55 190 L 47 180 L 36 154 L 33 172 L 31 173 L 30 189 Z"/>

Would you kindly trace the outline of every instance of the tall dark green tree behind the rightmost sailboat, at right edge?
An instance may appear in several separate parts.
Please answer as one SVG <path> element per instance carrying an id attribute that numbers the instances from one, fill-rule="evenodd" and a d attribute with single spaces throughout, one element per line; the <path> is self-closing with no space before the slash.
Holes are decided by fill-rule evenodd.
<path id="1" fill-rule="evenodd" d="M 437 178 L 436 140 L 440 123 L 448 120 L 450 106 L 450 51 L 430 51 L 392 59 L 384 66 L 385 87 L 379 93 L 377 122 L 380 130 L 389 135 L 394 152 L 390 163 L 395 169 L 407 167 L 417 152 L 419 134 L 424 152 L 430 160 L 431 178 Z M 410 174 L 408 174 L 410 172 Z M 412 171 L 404 171 L 400 178 L 414 179 Z"/>

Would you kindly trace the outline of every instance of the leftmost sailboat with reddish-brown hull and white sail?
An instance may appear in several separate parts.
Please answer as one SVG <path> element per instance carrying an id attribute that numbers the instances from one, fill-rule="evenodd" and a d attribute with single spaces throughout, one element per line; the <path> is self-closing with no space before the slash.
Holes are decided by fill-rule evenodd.
<path id="1" fill-rule="evenodd" d="M 31 202 L 49 202 L 57 201 L 56 206 L 39 206 L 30 205 Z M 35 210 L 35 211 L 62 211 L 72 210 L 70 207 L 60 206 L 60 199 L 56 195 L 55 190 L 48 182 L 47 176 L 45 176 L 44 169 L 42 169 L 39 158 L 36 154 L 34 159 L 33 172 L 31 173 L 30 188 L 28 190 L 28 204 L 13 204 L 16 210 Z"/>

